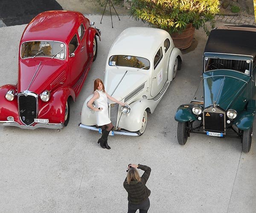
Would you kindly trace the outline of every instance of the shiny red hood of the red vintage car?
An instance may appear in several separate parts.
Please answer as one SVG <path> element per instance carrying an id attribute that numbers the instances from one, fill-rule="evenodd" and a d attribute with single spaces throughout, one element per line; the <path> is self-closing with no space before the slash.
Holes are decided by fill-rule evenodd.
<path id="1" fill-rule="evenodd" d="M 17 92 L 29 90 L 40 94 L 46 89 L 53 89 L 55 86 L 54 80 L 59 75 L 64 74 L 64 65 L 64 60 L 29 59 L 21 61 L 19 63 Z"/>

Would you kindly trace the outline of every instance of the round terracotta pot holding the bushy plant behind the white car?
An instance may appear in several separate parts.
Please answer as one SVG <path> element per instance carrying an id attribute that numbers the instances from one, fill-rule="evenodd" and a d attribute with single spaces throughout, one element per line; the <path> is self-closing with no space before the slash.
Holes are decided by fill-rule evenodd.
<path id="1" fill-rule="evenodd" d="M 189 23 L 186 26 L 186 29 L 184 29 L 181 34 L 173 33 L 171 37 L 175 44 L 175 47 L 179 49 L 187 49 L 192 44 L 194 34 L 195 34 L 195 28 L 192 26 L 192 23 Z"/>

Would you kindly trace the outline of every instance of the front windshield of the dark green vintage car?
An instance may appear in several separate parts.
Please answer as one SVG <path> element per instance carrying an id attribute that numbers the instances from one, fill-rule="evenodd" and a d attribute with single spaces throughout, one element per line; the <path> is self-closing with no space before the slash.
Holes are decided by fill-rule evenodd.
<path id="1" fill-rule="evenodd" d="M 218 69 L 230 69 L 237 72 L 242 72 L 245 75 L 250 75 L 250 63 L 250 60 L 204 58 L 205 72 Z"/>

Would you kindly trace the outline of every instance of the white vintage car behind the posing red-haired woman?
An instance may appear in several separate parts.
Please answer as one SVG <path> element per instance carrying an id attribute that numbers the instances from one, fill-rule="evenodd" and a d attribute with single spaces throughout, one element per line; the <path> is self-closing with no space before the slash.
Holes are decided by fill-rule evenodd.
<path id="1" fill-rule="evenodd" d="M 154 112 L 181 62 L 182 53 L 162 29 L 131 27 L 116 38 L 108 54 L 104 85 L 109 95 L 127 105 L 108 103 L 111 135 L 144 133 L 148 113 Z M 97 112 L 87 107 L 91 97 L 84 101 L 79 126 L 101 132 Z"/>

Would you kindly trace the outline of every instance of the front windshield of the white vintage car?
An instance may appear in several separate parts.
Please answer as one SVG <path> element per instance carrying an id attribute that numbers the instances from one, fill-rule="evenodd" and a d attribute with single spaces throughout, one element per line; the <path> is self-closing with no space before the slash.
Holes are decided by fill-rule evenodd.
<path id="1" fill-rule="evenodd" d="M 146 58 L 131 55 L 112 55 L 108 60 L 109 66 L 128 66 L 139 69 L 149 69 L 150 63 Z"/>

